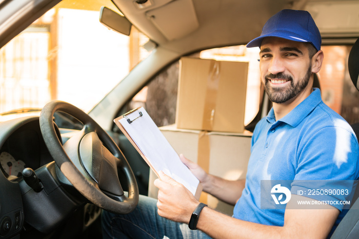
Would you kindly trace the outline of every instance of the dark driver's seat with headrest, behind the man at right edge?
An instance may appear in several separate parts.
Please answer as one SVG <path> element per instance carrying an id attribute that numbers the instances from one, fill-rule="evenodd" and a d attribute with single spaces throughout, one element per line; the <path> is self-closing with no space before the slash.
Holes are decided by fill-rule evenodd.
<path id="1" fill-rule="evenodd" d="M 348 58 L 348 69 L 354 86 L 357 90 L 359 90 L 359 39 L 356 40 L 352 49 L 350 50 Z M 359 123 L 354 123 L 351 126 L 355 132 L 356 138 L 358 138 Z M 353 204 L 351 205 L 351 208 L 347 214 L 344 216 L 342 222 L 335 229 L 334 233 L 330 237 L 331 239 L 359 238 L 359 200 L 356 200 L 358 196 L 359 187 L 357 186 L 354 193 L 354 198 L 352 200 Z"/>

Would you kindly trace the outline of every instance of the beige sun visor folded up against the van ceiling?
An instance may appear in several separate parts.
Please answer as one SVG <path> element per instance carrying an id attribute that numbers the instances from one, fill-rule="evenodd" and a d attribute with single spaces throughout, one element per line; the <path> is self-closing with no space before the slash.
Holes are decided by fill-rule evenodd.
<path id="1" fill-rule="evenodd" d="M 198 28 L 192 0 L 176 0 L 146 12 L 146 16 L 169 40 L 186 36 Z"/>

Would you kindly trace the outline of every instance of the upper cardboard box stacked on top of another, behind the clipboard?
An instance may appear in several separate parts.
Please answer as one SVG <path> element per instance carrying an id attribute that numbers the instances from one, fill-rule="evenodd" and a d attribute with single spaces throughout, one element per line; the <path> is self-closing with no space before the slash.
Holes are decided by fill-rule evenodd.
<path id="1" fill-rule="evenodd" d="M 248 63 L 182 57 L 179 68 L 177 128 L 242 133 Z"/>

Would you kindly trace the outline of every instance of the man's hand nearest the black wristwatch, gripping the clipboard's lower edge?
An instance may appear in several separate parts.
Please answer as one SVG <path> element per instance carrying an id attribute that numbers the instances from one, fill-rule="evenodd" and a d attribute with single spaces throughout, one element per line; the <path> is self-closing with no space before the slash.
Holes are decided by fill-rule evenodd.
<path id="1" fill-rule="evenodd" d="M 177 183 L 162 171 L 159 171 L 158 174 L 159 178 L 154 181 L 154 186 L 159 189 L 158 215 L 188 224 L 191 214 L 199 202 L 182 184 Z"/>

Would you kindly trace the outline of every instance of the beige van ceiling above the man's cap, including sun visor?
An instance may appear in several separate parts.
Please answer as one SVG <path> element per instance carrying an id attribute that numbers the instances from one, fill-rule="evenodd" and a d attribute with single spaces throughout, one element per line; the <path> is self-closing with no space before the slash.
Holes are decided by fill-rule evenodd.
<path id="1" fill-rule="evenodd" d="M 313 2 L 322 4 L 358 2 L 328 0 L 112 1 L 139 31 L 161 47 L 175 52 L 246 44 L 261 33 L 264 23 L 270 16 L 284 8 L 306 9 L 306 5 L 310 3 L 312 9 L 318 9 L 312 4 Z M 141 1 L 145 3 L 136 3 Z M 359 22 L 359 19 L 356 22 Z"/>

